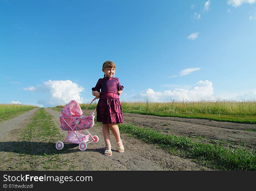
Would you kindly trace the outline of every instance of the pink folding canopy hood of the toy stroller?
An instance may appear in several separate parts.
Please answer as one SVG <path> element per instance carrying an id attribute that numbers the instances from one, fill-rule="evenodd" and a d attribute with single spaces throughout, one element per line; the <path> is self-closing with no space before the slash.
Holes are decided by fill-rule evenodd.
<path id="1" fill-rule="evenodd" d="M 83 114 L 81 107 L 75 100 L 72 100 L 66 104 L 65 107 L 62 108 L 61 113 L 63 116 L 68 117 L 80 117 L 80 115 Z"/>

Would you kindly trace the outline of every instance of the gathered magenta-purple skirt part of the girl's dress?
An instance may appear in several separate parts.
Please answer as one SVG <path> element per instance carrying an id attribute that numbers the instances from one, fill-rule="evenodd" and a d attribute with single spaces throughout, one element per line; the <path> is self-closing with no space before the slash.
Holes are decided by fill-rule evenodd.
<path id="1" fill-rule="evenodd" d="M 96 121 L 102 122 L 102 124 L 120 124 L 124 122 L 122 106 L 118 94 L 105 93 L 103 95 L 100 95 L 96 111 Z"/>

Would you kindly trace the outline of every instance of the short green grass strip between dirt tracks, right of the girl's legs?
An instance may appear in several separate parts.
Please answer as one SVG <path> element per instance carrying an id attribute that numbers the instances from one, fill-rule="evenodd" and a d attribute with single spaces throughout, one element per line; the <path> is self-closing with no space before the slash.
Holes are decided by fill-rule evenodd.
<path id="1" fill-rule="evenodd" d="M 193 158 L 203 164 L 211 164 L 220 170 L 256 170 L 256 151 L 226 149 L 217 144 L 203 144 L 188 137 L 165 135 L 150 128 L 139 128 L 130 124 L 119 124 L 120 132 L 129 133 L 149 144 L 173 153 L 178 151 L 182 156 Z"/>

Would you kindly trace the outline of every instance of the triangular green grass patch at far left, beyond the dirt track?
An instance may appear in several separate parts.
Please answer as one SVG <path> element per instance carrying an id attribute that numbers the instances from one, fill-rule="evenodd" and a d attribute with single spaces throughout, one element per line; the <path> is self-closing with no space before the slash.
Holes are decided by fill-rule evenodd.
<path id="1" fill-rule="evenodd" d="M 0 104 L 0 122 L 14 118 L 34 108 L 38 107 L 21 104 Z"/>

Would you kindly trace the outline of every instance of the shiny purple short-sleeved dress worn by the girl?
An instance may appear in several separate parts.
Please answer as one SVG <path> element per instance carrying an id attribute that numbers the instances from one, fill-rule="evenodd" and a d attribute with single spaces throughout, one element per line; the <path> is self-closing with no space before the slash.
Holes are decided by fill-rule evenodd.
<path id="1" fill-rule="evenodd" d="M 97 122 L 102 124 L 123 123 L 122 106 L 119 100 L 119 90 L 124 86 L 120 84 L 118 78 L 99 78 L 93 91 L 98 91 L 100 98 L 97 104 Z"/>

